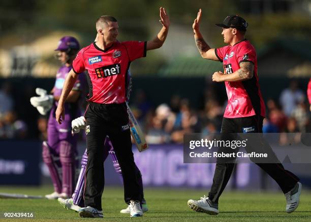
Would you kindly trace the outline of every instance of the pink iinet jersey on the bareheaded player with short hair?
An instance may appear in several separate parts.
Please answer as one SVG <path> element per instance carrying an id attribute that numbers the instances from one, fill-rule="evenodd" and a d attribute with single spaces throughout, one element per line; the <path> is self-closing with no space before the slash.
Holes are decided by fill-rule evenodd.
<path id="1" fill-rule="evenodd" d="M 123 103 L 130 63 L 145 56 L 146 42 L 115 42 L 106 50 L 92 43 L 79 51 L 73 70 L 76 73 L 87 70 L 89 102 Z"/>

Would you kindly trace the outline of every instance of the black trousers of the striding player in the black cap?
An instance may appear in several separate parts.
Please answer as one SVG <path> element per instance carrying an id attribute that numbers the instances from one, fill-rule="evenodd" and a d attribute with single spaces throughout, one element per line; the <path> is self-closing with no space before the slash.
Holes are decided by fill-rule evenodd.
<path id="1" fill-rule="evenodd" d="M 223 118 L 222 129 L 221 129 L 221 137 L 222 139 L 232 140 L 236 137 L 234 133 L 245 133 L 245 130 L 253 133 L 260 133 L 262 135 L 262 125 L 263 125 L 263 117 L 261 116 L 251 116 L 251 117 L 243 117 L 243 118 Z M 285 170 L 284 166 L 277 160 L 274 152 L 271 147 L 267 143 L 261 147 L 268 156 L 272 156 L 273 161 L 269 163 L 255 162 L 260 168 L 262 168 L 266 173 L 268 173 L 278 184 L 278 186 L 282 189 L 283 193 L 289 192 L 292 188 L 294 188 L 295 184 L 299 181 L 299 178 L 293 174 L 292 172 Z M 261 151 L 263 151 L 261 150 Z M 255 150 L 247 150 L 248 152 L 252 152 Z M 219 197 L 223 193 L 230 176 L 232 174 L 235 159 L 231 158 L 230 161 L 224 158 L 217 158 L 216 167 L 213 177 L 213 183 L 211 186 L 211 190 L 208 193 L 208 198 L 214 202 L 218 203 Z M 251 159 L 252 160 L 252 159 Z M 252 160 L 254 162 L 254 160 Z"/>

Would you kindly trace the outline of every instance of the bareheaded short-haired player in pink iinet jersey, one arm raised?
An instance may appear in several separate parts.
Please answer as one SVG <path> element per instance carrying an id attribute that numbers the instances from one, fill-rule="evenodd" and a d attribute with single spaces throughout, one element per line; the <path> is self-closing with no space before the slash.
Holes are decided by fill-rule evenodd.
<path id="1" fill-rule="evenodd" d="M 64 121 L 64 104 L 78 73 L 87 70 L 89 103 L 84 117 L 88 161 L 85 170 L 85 207 L 79 211 L 81 217 L 103 217 L 102 146 L 107 135 L 122 171 L 125 202 L 130 204 L 130 216 L 143 215 L 126 105 L 126 75 L 132 61 L 145 57 L 147 50 L 158 49 L 164 44 L 170 21 L 162 7 L 160 18 L 162 28 L 153 40 L 118 42 L 117 20 L 113 16 L 101 16 L 96 22 L 98 42 L 80 50 L 65 81 L 56 109 L 59 124 Z"/>

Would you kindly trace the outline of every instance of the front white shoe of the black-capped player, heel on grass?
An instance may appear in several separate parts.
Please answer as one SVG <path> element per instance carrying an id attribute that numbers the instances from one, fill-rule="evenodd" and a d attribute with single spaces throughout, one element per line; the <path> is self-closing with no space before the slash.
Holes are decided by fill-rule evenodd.
<path id="1" fill-rule="evenodd" d="M 211 202 L 205 195 L 200 200 L 189 200 L 188 206 L 197 212 L 208 213 L 210 215 L 219 214 L 218 204 Z"/>

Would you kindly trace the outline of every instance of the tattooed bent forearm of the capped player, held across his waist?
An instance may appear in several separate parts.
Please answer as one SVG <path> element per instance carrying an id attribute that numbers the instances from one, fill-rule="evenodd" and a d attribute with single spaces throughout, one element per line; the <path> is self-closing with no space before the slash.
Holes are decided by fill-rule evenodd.
<path id="1" fill-rule="evenodd" d="M 240 68 L 231 74 L 224 74 L 221 71 L 214 72 L 212 80 L 214 82 L 237 82 L 250 80 L 254 77 L 254 64 L 252 62 L 241 62 Z"/>

